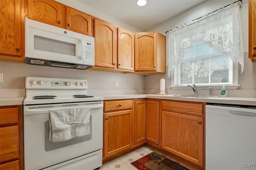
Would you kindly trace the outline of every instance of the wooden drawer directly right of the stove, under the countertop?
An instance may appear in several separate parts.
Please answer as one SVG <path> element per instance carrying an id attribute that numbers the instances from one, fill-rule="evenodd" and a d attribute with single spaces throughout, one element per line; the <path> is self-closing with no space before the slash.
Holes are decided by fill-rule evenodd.
<path id="1" fill-rule="evenodd" d="M 104 111 L 115 111 L 132 108 L 132 100 L 117 100 L 104 102 Z"/>

